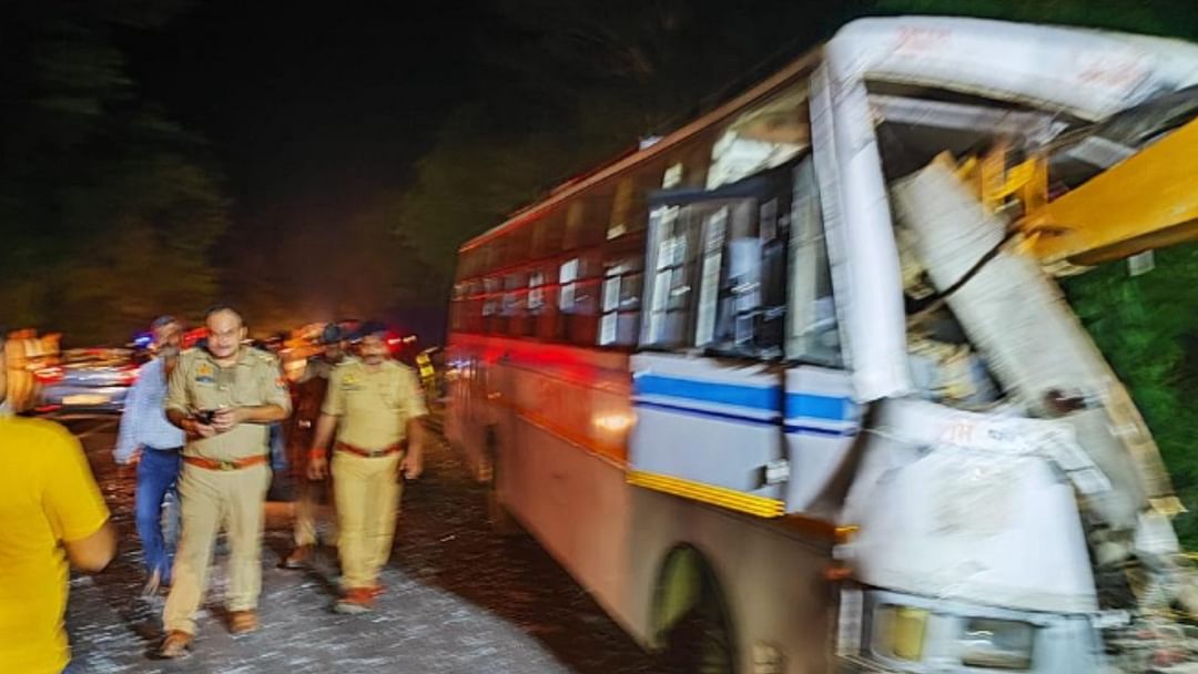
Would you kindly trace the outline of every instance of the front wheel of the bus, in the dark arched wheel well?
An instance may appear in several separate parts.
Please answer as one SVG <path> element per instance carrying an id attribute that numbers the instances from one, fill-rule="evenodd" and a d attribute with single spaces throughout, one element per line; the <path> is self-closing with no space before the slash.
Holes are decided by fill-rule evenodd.
<path id="1" fill-rule="evenodd" d="M 734 674 L 736 640 L 724 595 L 697 549 L 666 558 L 655 601 L 659 669 L 666 674 Z"/>

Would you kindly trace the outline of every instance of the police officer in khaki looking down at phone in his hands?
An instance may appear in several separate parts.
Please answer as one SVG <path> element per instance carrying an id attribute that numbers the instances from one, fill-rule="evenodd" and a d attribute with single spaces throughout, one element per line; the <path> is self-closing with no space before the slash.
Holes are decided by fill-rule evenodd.
<path id="1" fill-rule="evenodd" d="M 179 481 L 183 530 L 163 614 L 163 657 L 190 646 L 222 524 L 230 542 L 229 629 L 236 634 L 258 627 L 262 508 L 271 484 L 267 427 L 291 411 L 278 360 L 243 346 L 241 315 L 220 305 L 205 323 L 206 348 L 180 357 L 167 391 L 167 418 L 183 429 L 187 444 Z"/>

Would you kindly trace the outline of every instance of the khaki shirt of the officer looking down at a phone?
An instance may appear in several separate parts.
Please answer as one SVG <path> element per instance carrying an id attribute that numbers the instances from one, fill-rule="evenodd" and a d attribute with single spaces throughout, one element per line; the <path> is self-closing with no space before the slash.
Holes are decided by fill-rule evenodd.
<path id="1" fill-rule="evenodd" d="M 193 414 L 224 407 L 278 405 L 291 411 L 286 379 L 274 356 L 243 346 L 237 362 L 220 368 L 201 348 L 184 351 L 167 387 L 167 409 Z M 231 461 L 268 451 L 270 424 L 238 424 L 211 438 L 188 438 L 184 456 Z"/>

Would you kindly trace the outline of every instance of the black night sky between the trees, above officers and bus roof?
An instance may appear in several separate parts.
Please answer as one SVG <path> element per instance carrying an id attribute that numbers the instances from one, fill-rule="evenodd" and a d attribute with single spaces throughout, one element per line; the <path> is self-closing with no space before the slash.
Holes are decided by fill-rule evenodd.
<path id="1" fill-rule="evenodd" d="M 385 198 L 404 194 L 415 163 L 432 147 L 447 115 L 462 104 L 482 102 L 498 110 L 507 102 L 526 110 L 521 104 L 533 86 L 573 84 L 575 69 L 582 71 L 580 83 L 592 81 L 587 72 L 592 79 L 597 73 L 609 78 L 606 61 L 597 57 L 598 65 L 592 63 L 591 53 L 576 45 L 585 41 L 574 40 L 565 59 L 555 61 L 553 41 L 534 38 L 565 35 L 570 42 L 568 31 L 576 26 L 607 37 L 611 26 L 613 34 L 668 51 L 659 55 L 672 56 L 660 59 L 662 63 L 694 66 L 689 74 L 667 72 L 708 77 L 710 83 L 701 87 L 707 92 L 744 68 L 724 63 L 722 74 L 706 71 L 701 53 L 719 47 L 719 59 L 749 67 L 805 31 L 818 32 L 798 20 L 817 17 L 813 5 L 760 0 L 755 13 L 730 14 L 738 10 L 719 0 L 662 4 L 668 12 L 637 0 L 561 6 L 545 0 L 212 0 L 196 2 L 165 28 L 123 35 L 121 47 L 144 97 L 206 138 L 213 165 L 225 177 L 232 226 L 212 254 L 222 292 L 254 314 L 259 324 L 279 326 L 345 311 L 412 309 L 406 304 L 413 300 L 399 306 L 404 303 L 391 289 L 365 287 L 368 274 L 359 272 L 406 262 L 419 269 L 420 262 L 404 250 L 393 250 L 386 260 L 370 257 L 346 232 L 357 215 L 369 217 Z M 654 12 L 685 16 L 690 23 L 678 19 L 688 28 L 658 43 L 666 40 L 661 31 L 667 22 Z M 543 17 L 547 20 L 530 22 Z M 749 34 L 761 40 L 746 40 Z M 563 49 L 561 43 L 557 48 Z M 692 53 L 694 63 L 688 56 Z M 538 61 L 526 68 L 530 60 Z M 545 63 L 553 66 L 536 67 Z M 591 84 L 580 89 L 585 86 Z M 686 110 L 692 103 L 680 99 L 677 108 Z M 508 113 L 513 115 L 519 113 Z M 544 123 L 570 123 L 546 116 Z M 516 126 L 525 133 L 527 120 L 520 119 Z M 625 147 L 636 133 L 629 129 L 611 151 Z M 464 233 L 474 225 L 462 223 Z M 441 298 L 425 304 L 443 312 Z"/>

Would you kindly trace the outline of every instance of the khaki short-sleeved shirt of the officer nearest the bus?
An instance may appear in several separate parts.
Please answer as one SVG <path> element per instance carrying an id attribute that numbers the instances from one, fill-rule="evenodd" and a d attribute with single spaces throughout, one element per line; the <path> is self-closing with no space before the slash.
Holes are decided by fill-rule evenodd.
<path id="1" fill-rule="evenodd" d="M 356 358 L 333 370 L 320 411 L 340 417 L 338 442 L 371 451 L 403 442 L 407 421 L 429 413 L 411 368 L 385 360 L 371 372 Z"/>

